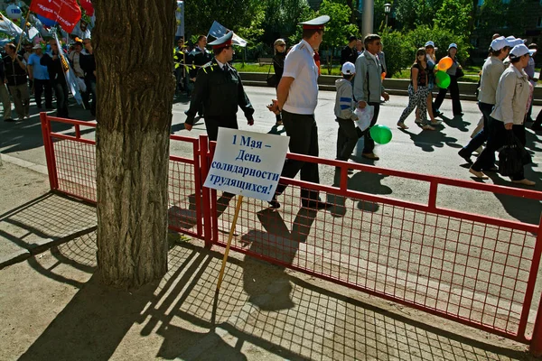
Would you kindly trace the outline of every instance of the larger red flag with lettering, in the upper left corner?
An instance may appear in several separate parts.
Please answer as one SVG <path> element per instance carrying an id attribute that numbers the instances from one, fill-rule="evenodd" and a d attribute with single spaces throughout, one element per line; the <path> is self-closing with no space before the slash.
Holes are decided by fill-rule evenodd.
<path id="1" fill-rule="evenodd" d="M 32 0 L 30 11 L 60 23 L 66 32 L 73 32 L 81 18 L 77 0 Z"/>

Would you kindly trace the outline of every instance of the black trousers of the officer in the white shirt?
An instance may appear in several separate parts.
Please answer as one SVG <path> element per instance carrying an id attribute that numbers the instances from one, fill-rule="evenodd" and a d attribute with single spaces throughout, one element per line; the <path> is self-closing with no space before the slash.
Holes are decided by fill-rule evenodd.
<path id="1" fill-rule="evenodd" d="M 314 115 L 302 115 L 288 113 L 282 111 L 283 125 L 285 125 L 286 134 L 290 137 L 288 145 L 291 153 L 304 155 L 318 156 L 318 126 Z M 301 180 L 320 183 L 320 175 L 318 173 L 318 164 L 313 162 L 300 162 L 287 159 L 281 176 L 286 178 L 295 178 L 297 173 L 301 171 Z M 278 184 L 276 194 L 282 194 L 286 189 L 285 184 Z M 301 198 L 318 199 L 317 190 L 301 189 Z"/>

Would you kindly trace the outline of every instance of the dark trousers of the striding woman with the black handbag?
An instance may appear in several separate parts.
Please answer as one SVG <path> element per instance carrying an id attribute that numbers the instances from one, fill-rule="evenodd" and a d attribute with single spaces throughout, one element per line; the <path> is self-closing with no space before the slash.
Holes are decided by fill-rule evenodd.
<path id="1" fill-rule="evenodd" d="M 472 164 L 472 169 L 474 171 L 481 171 L 483 167 L 491 162 L 491 159 L 495 159 L 495 152 L 506 143 L 506 132 L 508 131 L 504 128 L 504 123 L 491 118 L 490 132 L 487 146 L 478 156 L 476 162 Z M 519 142 L 525 145 L 525 125 L 512 126 L 512 132 L 514 132 L 514 135 L 519 139 Z M 510 176 L 510 178 L 511 180 L 523 180 L 525 178 L 523 175 L 523 168 L 518 173 Z"/>

